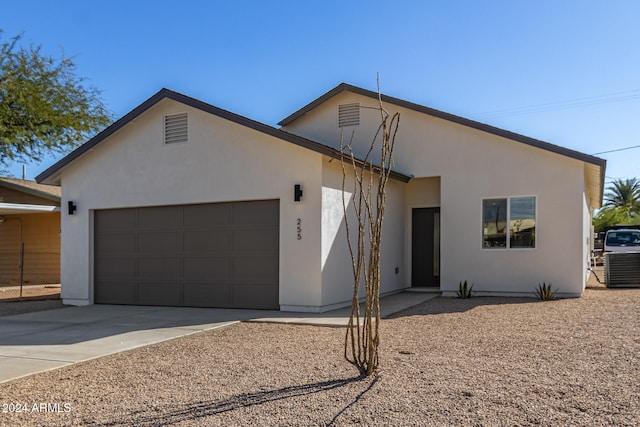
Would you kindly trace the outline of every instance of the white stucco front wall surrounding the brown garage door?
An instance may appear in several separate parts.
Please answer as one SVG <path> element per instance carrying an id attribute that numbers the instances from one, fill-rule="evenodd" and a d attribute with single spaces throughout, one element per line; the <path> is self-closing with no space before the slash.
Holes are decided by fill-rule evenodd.
<path id="1" fill-rule="evenodd" d="M 189 142 L 163 143 L 164 115 L 189 113 Z M 96 209 L 279 199 L 280 304 L 320 306 L 322 155 L 168 99 L 62 171 L 62 298 L 93 303 Z M 293 201 L 293 187 L 304 197 Z M 302 238 L 297 238 L 297 219 Z"/>

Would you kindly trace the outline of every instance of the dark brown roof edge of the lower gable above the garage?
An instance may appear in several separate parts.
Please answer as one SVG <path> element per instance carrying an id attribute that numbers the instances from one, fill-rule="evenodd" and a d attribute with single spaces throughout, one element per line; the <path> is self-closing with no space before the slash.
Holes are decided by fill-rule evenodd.
<path id="1" fill-rule="evenodd" d="M 85 142 L 74 151 L 69 153 L 67 156 L 63 157 L 61 160 L 56 162 L 54 165 L 46 169 L 40 175 L 36 177 L 36 181 L 47 182 L 47 183 L 59 183 L 60 182 L 60 172 L 62 169 L 68 164 L 72 163 L 87 151 L 94 148 L 96 145 L 100 144 L 102 141 L 119 131 L 121 128 L 132 122 L 135 118 L 149 110 L 155 104 L 160 102 L 163 99 L 171 99 L 176 102 L 180 102 L 182 104 L 188 105 L 190 107 L 196 108 L 198 110 L 202 110 L 209 114 L 213 114 L 215 116 L 221 117 L 223 119 L 229 120 L 231 122 L 237 123 L 242 126 L 246 126 L 250 129 L 256 130 L 258 132 L 262 132 L 267 135 L 271 135 L 273 137 L 282 139 L 284 141 L 299 145 L 301 147 L 307 148 L 312 151 L 316 151 L 320 154 L 324 154 L 326 156 L 339 159 L 342 155 L 339 150 L 336 150 L 332 147 L 326 146 L 316 141 L 312 141 L 307 138 L 303 138 L 298 135 L 294 135 L 292 133 L 286 132 L 282 129 L 274 128 L 272 126 L 266 125 L 264 123 L 260 123 L 258 121 L 249 119 L 247 117 L 241 116 L 239 114 L 232 113 L 227 110 L 223 110 L 222 108 L 215 107 L 211 104 L 207 104 L 206 102 L 200 101 L 195 98 L 191 98 L 189 96 L 183 95 L 178 92 L 174 92 L 172 90 L 163 88 L 158 91 L 151 98 L 144 101 L 142 104 L 138 105 L 136 108 L 131 110 L 125 116 L 115 121 L 113 124 L 108 126 L 102 132 L 91 138 L 89 141 Z M 348 160 L 348 156 L 345 156 L 345 160 Z M 360 160 L 356 160 L 356 163 L 362 163 Z M 408 182 L 411 179 L 409 176 L 398 173 L 391 172 L 391 177 L 403 182 Z"/>

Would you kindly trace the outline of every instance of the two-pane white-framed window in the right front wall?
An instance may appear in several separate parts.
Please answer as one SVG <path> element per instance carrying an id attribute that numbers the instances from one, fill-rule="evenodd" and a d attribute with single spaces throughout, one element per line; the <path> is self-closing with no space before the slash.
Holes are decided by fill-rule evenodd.
<path id="1" fill-rule="evenodd" d="M 505 197 L 482 201 L 482 247 L 536 247 L 536 198 Z"/>

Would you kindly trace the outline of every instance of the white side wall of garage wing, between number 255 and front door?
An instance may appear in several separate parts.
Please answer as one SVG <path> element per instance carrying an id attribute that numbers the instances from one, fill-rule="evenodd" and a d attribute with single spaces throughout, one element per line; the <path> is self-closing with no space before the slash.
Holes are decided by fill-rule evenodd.
<path id="1" fill-rule="evenodd" d="M 347 165 L 347 172 L 352 166 Z M 353 191 L 353 175 L 346 180 L 345 191 Z M 323 310 L 351 304 L 353 273 L 347 245 L 342 204 L 342 168 L 338 160 L 323 162 L 322 179 L 322 304 Z M 404 194 L 402 182 L 387 183 L 387 205 L 382 227 L 380 293 L 406 287 L 404 267 Z M 349 227 L 355 245 L 357 222 L 353 199 L 349 194 Z M 396 273 L 397 268 L 397 273 Z M 362 289 L 361 296 L 364 296 Z"/>

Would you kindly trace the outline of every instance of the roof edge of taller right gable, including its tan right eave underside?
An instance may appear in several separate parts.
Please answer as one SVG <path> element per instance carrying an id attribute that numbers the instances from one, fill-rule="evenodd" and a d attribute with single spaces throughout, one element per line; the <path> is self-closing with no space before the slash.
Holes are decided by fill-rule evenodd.
<path id="1" fill-rule="evenodd" d="M 559 145 L 551 144 L 549 142 L 541 141 L 541 140 L 531 138 L 525 135 L 521 135 L 515 132 L 500 129 L 491 125 L 487 125 L 485 123 L 477 122 L 475 120 L 456 116 L 450 113 L 445 113 L 444 111 L 436 110 L 430 107 L 425 107 L 424 105 L 415 104 L 413 102 L 405 101 L 403 99 L 394 98 L 392 96 L 383 95 L 383 94 L 378 95 L 378 92 L 363 89 L 347 83 L 340 83 L 338 86 L 334 87 L 324 95 L 311 101 L 309 104 L 305 105 L 298 111 L 294 112 L 293 114 L 281 120 L 278 123 L 278 125 L 287 126 L 288 124 L 293 123 L 295 120 L 309 113 L 311 110 L 313 110 L 320 104 L 324 103 L 325 101 L 329 100 L 330 98 L 333 98 L 334 96 L 342 92 L 351 92 L 351 93 L 363 95 L 369 98 L 373 98 L 376 101 L 378 100 L 378 96 L 380 96 L 380 99 L 382 100 L 382 102 L 386 102 L 388 104 L 393 104 L 393 105 L 397 105 L 398 107 L 417 111 L 423 114 L 428 114 L 430 116 L 437 117 L 439 119 L 447 120 L 453 123 L 457 123 L 463 126 L 480 130 L 482 132 L 487 132 L 493 135 L 510 139 L 512 141 L 520 142 L 522 144 L 526 144 L 535 148 L 550 151 L 552 153 L 560 154 L 562 156 L 566 156 L 572 159 L 580 160 L 585 163 L 585 174 L 588 175 L 587 179 L 588 181 L 591 182 L 590 185 L 598 187 L 594 190 L 596 194 L 595 195 L 592 194 L 592 197 L 591 197 L 592 206 L 600 207 L 602 205 L 605 169 L 607 164 L 607 161 L 605 159 L 591 156 L 589 154 L 581 153 L 579 151 L 571 150 L 569 148 L 561 147 Z"/>

